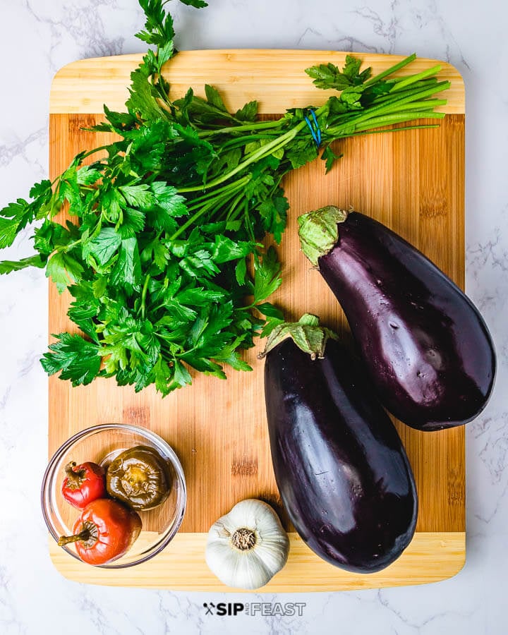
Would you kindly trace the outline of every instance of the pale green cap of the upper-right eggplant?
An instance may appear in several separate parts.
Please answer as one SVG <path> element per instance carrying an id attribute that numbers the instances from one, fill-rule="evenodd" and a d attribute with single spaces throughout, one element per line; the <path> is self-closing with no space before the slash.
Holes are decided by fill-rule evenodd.
<path id="1" fill-rule="evenodd" d="M 317 260 L 331 251 L 339 240 L 338 224 L 348 216 L 345 210 L 327 205 L 298 217 L 298 236 L 303 253 L 317 267 Z"/>

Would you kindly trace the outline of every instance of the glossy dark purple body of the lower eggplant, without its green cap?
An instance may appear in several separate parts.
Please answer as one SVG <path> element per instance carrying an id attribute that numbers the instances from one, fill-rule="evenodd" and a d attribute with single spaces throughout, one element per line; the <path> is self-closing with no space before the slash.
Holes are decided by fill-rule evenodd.
<path id="1" fill-rule="evenodd" d="M 418 497 L 397 430 L 337 341 L 311 360 L 291 339 L 267 353 L 265 400 L 277 487 L 291 523 L 322 559 L 356 573 L 397 560 Z"/>

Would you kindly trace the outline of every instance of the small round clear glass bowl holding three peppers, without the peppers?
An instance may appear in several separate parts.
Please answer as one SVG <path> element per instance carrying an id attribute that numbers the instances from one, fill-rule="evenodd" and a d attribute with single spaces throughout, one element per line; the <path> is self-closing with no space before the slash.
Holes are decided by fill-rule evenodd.
<path id="1" fill-rule="evenodd" d="M 140 536 L 131 549 L 118 560 L 96 565 L 104 569 L 122 569 L 150 560 L 164 549 L 179 530 L 185 514 L 187 492 L 183 469 L 174 450 L 159 435 L 135 425 L 112 423 L 94 425 L 81 430 L 56 450 L 42 479 L 42 515 L 49 533 L 58 541 L 60 536 L 71 536 L 80 509 L 72 507 L 61 494 L 65 466 L 71 461 L 78 465 L 85 461 L 101 464 L 104 468 L 123 450 L 136 445 L 155 449 L 167 461 L 172 476 L 169 497 L 155 509 L 138 512 L 143 522 Z M 80 560 L 74 545 L 62 549 Z"/>

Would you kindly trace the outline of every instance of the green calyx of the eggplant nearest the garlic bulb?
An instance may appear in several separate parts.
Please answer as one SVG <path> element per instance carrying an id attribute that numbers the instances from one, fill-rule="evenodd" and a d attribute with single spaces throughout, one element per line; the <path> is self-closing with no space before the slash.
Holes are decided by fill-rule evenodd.
<path id="1" fill-rule="evenodd" d="M 319 317 L 305 313 L 298 322 L 284 322 L 273 329 L 267 339 L 265 350 L 258 355 L 259 359 L 267 356 L 272 349 L 284 339 L 291 337 L 296 346 L 311 359 L 322 359 L 328 339 L 339 339 L 337 334 L 326 327 L 320 327 Z"/>

